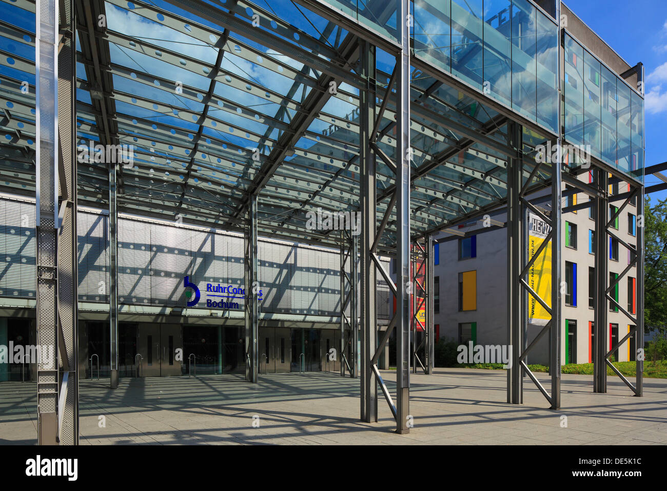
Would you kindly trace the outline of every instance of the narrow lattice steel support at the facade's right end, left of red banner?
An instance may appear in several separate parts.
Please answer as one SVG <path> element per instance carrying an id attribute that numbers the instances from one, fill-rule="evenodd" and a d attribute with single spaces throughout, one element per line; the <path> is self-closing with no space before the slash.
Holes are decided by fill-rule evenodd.
<path id="1" fill-rule="evenodd" d="M 359 315 L 357 312 L 357 285 L 359 283 L 357 236 L 341 231 L 340 246 L 340 375 L 359 376 L 357 345 L 359 339 Z"/>

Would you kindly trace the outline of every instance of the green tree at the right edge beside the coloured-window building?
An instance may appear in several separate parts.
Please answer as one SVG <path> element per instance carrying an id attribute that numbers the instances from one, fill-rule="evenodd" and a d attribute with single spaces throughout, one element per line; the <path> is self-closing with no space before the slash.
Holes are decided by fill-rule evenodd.
<path id="1" fill-rule="evenodd" d="M 641 222 L 638 218 L 638 226 Z M 667 333 L 667 199 L 644 203 L 644 325 Z"/>

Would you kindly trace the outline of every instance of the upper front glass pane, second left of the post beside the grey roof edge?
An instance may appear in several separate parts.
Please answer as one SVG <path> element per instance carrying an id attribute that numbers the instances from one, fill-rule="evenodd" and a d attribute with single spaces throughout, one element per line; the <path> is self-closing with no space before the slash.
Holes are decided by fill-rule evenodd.
<path id="1" fill-rule="evenodd" d="M 527 0 L 512 1 L 512 109 L 536 120 L 537 11 Z"/>

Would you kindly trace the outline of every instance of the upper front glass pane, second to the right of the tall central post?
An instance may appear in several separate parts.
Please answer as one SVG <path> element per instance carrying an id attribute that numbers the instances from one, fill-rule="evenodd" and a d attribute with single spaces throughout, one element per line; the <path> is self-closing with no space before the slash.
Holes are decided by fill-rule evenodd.
<path id="1" fill-rule="evenodd" d="M 482 0 L 452 0 L 452 73 L 482 90 Z"/>

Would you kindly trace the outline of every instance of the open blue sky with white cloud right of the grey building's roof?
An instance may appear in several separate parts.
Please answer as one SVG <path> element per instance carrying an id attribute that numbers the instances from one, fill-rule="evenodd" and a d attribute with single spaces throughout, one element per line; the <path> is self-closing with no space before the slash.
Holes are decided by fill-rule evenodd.
<path id="1" fill-rule="evenodd" d="M 569 0 L 572 11 L 630 65 L 646 70 L 646 166 L 667 162 L 667 1 Z M 646 186 L 662 181 L 647 177 Z M 650 194 L 667 198 L 667 191 Z"/>

